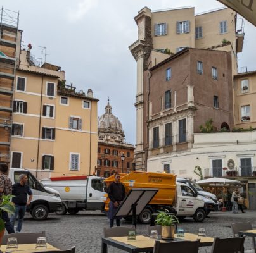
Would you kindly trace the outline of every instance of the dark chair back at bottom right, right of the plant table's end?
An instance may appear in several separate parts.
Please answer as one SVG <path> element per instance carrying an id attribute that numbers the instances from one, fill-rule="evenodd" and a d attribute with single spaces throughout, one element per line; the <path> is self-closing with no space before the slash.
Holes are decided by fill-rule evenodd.
<path id="1" fill-rule="evenodd" d="M 211 253 L 237 253 L 244 252 L 243 244 L 245 236 L 243 237 L 230 237 L 230 238 L 214 238 Z"/>

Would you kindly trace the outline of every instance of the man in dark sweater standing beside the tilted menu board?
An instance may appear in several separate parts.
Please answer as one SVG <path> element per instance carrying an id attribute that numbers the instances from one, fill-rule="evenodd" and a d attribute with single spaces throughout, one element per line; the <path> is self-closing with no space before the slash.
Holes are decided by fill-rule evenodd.
<path id="1" fill-rule="evenodd" d="M 124 185 L 120 182 L 120 174 L 115 173 L 115 181 L 108 187 L 108 197 L 110 198 L 110 204 L 108 209 L 108 218 L 110 219 L 110 228 L 114 226 L 114 219 L 117 226 L 120 226 L 120 217 L 115 217 L 117 208 L 125 197 Z"/>

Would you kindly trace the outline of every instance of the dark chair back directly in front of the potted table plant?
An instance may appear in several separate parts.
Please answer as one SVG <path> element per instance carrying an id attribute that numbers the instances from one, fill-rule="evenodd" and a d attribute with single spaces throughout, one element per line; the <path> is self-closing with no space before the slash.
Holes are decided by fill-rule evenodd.
<path id="1" fill-rule="evenodd" d="M 174 241 L 160 242 L 155 241 L 153 253 L 170 253 L 170 252 L 189 252 L 198 253 L 200 240 L 196 241 Z"/>

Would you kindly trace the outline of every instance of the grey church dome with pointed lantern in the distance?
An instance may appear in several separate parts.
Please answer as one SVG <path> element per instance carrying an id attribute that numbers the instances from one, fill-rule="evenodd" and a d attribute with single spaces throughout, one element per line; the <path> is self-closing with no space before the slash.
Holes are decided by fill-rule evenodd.
<path id="1" fill-rule="evenodd" d="M 108 100 L 105 107 L 105 114 L 98 118 L 98 138 L 101 140 L 114 140 L 122 142 L 125 134 L 122 124 L 118 118 L 112 114 L 112 107 Z"/>

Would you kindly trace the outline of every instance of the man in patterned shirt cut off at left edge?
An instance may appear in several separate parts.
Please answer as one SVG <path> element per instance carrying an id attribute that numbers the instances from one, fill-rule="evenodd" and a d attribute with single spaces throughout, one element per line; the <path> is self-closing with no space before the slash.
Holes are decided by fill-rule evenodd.
<path id="1" fill-rule="evenodd" d="M 11 178 L 8 176 L 8 166 L 5 163 L 0 163 L 0 203 L 2 202 L 3 195 L 11 194 L 12 184 Z M 2 210 L 2 219 L 4 221 L 6 231 L 8 233 L 15 233 L 8 213 L 4 210 Z"/>

